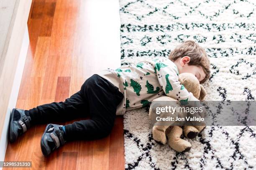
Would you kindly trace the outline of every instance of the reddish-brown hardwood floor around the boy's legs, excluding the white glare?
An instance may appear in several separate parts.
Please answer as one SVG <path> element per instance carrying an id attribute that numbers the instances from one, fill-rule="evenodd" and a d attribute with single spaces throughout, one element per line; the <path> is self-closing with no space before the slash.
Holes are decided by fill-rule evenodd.
<path id="1" fill-rule="evenodd" d="M 87 36 L 85 5 L 83 0 L 33 0 L 28 19 L 30 46 L 17 108 L 65 100 L 99 69 L 95 63 L 105 62 L 88 56 L 84 49 L 88 43 L 82 38 Z M 108 137 L 67 143 L 47 158 L 40 148 L 45 127 L 33 126 L 18 141 L 9 143 L 5 161 L 32 161 L 36 170 L 124 169 L 123 117 L 117 117 Z"/>

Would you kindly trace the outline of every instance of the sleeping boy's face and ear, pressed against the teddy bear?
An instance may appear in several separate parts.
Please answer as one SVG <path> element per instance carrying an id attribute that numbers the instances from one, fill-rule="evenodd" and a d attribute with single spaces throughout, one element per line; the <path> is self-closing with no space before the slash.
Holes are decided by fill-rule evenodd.
<path id="1" fill-rule="evenodd" d="M 178 58 L 174 63 L 176 64 L 176 66 L 178 67 L 179 73 L 184 73 L 184 72 L 189 72 L 192 73 L 193 75 L 195 75 L 197 77 L 197 79 L 199 80 L 199 82 L 201 82 L 202 80 L 204 80 L 206 74 L 203 70 L 203 68 L 201 66 L 197 66 L 197 65 L 188 65 L 190 61 L 190 57 L 185 56 L 182 58 Z"/>

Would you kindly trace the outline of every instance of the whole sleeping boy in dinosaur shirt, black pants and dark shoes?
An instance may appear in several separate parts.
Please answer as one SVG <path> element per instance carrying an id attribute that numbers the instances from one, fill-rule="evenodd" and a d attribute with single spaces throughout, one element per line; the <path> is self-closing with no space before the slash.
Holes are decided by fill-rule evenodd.
<path id="1" fill-rule="evenodd" d="M 163 94 L 182 103 L 197 101 L 178 80 L 178 75 L 184 72 L 195 75 L 200 83 L 210 77 L 210 61 L 205 50 L 191 40 L 172 50 L 169 58 L 155 57 L 92 75 L 81 90 L 63 102 L 30 110 L 13 109 L 10 142 L 34 124 L 90 117 L 68 125 L 48 124 L 41 138 L 41 150 L 47 156 L 70 140 L 93 140 L 109 135 L 116 115 L 146 106 Z"/>

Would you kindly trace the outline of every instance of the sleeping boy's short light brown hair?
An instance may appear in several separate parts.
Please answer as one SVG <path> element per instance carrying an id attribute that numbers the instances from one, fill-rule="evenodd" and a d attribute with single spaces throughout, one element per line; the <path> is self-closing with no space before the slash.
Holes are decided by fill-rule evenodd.
<path id="1" fill-rule="evenodd" d="M 192 40 L 187 40 L 172 50 L 169 59 L 175 61 L 179 57 L 184 56 L 190 57 L 189 65 L 202 66 L 205 72 L 205 78 L 200 83 L 203 83 L 210 78 L 210 60 L 202 47 Z"/>

